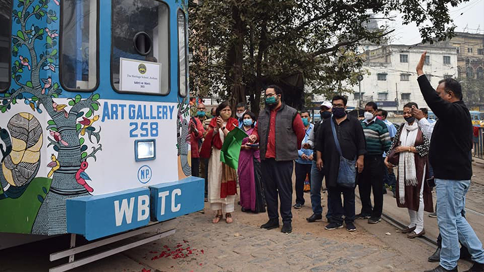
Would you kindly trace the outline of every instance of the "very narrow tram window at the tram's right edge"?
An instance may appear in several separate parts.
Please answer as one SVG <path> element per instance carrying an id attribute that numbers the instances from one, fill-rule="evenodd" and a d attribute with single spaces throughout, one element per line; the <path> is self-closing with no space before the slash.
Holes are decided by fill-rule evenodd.
<path id="1" fill-rule="evenodd" d="M 186 96 L 186 24 L 185 13 L 182 10 L 177 12 L 178 21 L 178 88 L 180 96 Z"/>

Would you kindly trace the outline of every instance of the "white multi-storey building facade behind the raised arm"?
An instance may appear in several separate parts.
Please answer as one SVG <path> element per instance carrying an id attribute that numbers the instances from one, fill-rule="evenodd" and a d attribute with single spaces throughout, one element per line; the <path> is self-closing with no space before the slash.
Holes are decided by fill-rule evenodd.
<path id="1" fill-rule="evenodd" d="M 424 71 L 432 85 L 439 80 L 458 76 L 456 49 L 442 45 L 386 45 L 367 50 L 362 57 L 366 60 L 360 85 L 353 87 L 348 95 L 348 107 L 361 107 L 369 101 L 377 102 L 380 108 L 389 112 L 400 112 L 408 102 L 427 107 L 417 83 L 415 67 L 421 54 L 427 51 Z M 361 96 L 360 96 L 361 89 Z"/>

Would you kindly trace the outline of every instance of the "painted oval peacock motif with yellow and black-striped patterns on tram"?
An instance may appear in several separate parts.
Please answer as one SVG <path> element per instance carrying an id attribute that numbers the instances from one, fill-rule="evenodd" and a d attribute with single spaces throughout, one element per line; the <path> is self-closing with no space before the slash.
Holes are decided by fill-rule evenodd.
<path id="1" fill-rule="evenodd" d="M 40 167 L 42 127 L 39 120 L 29 113 L 14 115 L 0 128 L 2 159 L 0 161 L 0 199 L 19 198 L 34 179 Z M 10 132 L 10 133 L 9 133 Z"/>

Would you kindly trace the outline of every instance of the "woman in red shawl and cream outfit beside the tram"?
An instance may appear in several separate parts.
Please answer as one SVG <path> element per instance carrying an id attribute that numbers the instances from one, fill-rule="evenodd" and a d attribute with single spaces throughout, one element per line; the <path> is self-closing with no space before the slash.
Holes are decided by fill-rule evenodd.
<path id="1" fill-rule="evenodd" d="M 236 176 L 233 168 L 220 161 L 220 150 L 227 133 L 238 126 L 238 120 L 232 118 L 230 103 L 225 101 L 217 107 L 216 117 L 208 125 L 200 157 L 208 160 L 208 201 L 210 208 L 217 211 L 212 223 L 216 224 L 225 213 L 225 221 L 232 223 L 235 195 L 237 194 Z"/>

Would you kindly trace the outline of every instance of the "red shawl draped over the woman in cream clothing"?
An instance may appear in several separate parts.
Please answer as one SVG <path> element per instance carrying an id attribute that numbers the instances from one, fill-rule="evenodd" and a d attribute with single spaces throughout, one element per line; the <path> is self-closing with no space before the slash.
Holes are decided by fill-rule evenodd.
<path id="1" fill-rule="evenodd" d="M 223 143 L 220 139 L 220 134 L 214 134 L 214 128 L 217 126 L 217 118 L 213 118 L 208 125 L 208 133 L 205 136 L 205 141 L 202 144 L 202 149 L 200 150 L 201 158 L 210 158 L 212 147 L 217 149 L 222 149 Z M 227 120 L 225 128 L 231 131 L 232 129 L 238 127 L 238 120 L 230 117 Z M 226 198 L 227 196 L 234 196 L 237 194 L 237 181 L 235 169 L 230 168 L 223 162 L 222 164 L 222 179 L 220 186 L 220 198 Z"/>

